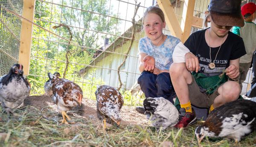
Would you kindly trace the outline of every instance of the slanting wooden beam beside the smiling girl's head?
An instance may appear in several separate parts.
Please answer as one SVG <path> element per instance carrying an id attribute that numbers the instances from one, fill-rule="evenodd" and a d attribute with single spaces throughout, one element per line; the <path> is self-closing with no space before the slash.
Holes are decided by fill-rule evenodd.
<path id="1" fill-rule="evenodd" d="M 158 6 L 162 9 L 163 14 L 165 15 L 166 24 L 171 31 L 172 35 L 181 39 L 182 30 L 180 24 L 178 23 L 175 11 L 173 10 L 169 0 L 157 0 Z"/>

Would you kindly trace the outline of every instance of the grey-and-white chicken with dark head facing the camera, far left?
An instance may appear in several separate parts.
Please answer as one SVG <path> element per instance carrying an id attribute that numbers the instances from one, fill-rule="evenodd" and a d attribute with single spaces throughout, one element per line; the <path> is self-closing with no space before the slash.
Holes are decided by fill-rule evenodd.
<path id="1" fill-rule="evenodd" d="M 0 77 L 0 102 L 8 116 L 29 96 L 30 85 L 23 76 L 23 66 L 15 64 Z"/>

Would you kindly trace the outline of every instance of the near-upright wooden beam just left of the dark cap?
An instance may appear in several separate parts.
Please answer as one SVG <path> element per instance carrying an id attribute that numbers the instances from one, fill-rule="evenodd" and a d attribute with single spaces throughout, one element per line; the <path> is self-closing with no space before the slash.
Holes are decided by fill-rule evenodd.
<path id="1" fill-rule="evenodd" d="M 191 25 L 192 25 L 194 8 L 195 8 L 195 0 L 184 0 L 182 21 L 180 25 L 183 31 L 183 35 L 181 38 L 181 42 L 183 43 L 188 39 L 191 33 Z"/>

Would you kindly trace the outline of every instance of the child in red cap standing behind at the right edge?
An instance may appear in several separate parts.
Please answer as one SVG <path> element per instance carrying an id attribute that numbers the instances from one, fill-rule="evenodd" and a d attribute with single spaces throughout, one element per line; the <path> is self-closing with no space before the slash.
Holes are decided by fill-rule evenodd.
<path id="1" fill-rule="evenodd" d="M 246 79 L 252 62 L 253 52 L 256 49 L 256 25 L 253 23 L 256 19 L 256 5 L 254 3 L 244 4 L 241 7 L 241 14 L 245 24 L 243 27 L 233 27 L 232 32 L 243 38 L 246 50 L 246 54 L 240 58 L 239 62 L 239 85 L 242 88 L 242 83 Z"/>

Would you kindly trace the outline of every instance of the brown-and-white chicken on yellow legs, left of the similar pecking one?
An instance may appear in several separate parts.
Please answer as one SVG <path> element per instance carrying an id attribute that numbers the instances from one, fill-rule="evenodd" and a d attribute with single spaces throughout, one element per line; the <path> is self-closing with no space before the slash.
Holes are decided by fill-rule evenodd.
<path id="1" fill-rule="evenodd" d="M 63 117 L 61 124 L 69 124 L 66 118 L 70 120 L 70 117 L 67 116 L 66 111 L 81 105 L 83 92 L 79 85 L 70 80 L 57 78 L 51 73 L 48 73 L 48 76 L 52 83 L 52 99 Z"/>

